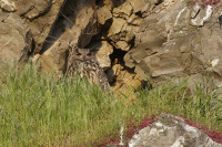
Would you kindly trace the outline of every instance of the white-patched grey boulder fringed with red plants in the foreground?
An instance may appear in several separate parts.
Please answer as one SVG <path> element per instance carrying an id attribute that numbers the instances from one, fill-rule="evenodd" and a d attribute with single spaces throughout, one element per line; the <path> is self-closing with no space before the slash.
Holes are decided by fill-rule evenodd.
<path id="1" fill-rule="evenodd" d="M 161 114 L 157 122 L 141 129 L 129 147 L 222 147 L 204 132 L 188 125 L 181 117 Z"/>

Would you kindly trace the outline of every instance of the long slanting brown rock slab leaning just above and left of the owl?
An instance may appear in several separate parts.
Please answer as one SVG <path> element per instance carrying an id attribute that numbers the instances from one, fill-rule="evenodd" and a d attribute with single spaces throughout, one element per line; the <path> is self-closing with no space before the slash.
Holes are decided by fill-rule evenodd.
<path id="1" fill-rule="evenodd" d="M 77 4 L 78 3 L 78 4 Z M 91 38 L 97 34 L 97 20 L 94 17 L 94 9 L 88 1 L 72 3 L 75 7 L 75 20 L 70 24 L 70 20 L 64 20 L 58 23 L 69 23 L 63 25 L 64 32 L 59 36 L 56 42 L 42 54 L 44 59 L 42 64 L 52 65 L 50 69 L 58 69 L 64 71 L 67 62 L 68 49 L 71 45 L 85 48 L 91 41 Z M 68 22 L 67 22 L 68 21 Z M 58 28 L 61 28 L 60 25 Z M 57 30 L 56 30 L 57 31 Z M 56 32 L 57 33 L 57 32 Z M 41 60 L 41 57 L 40 57 Z M 48 64 L 52 62 L 53 64 Z M 49 67 L 49 66 L 48 66 Z"/>

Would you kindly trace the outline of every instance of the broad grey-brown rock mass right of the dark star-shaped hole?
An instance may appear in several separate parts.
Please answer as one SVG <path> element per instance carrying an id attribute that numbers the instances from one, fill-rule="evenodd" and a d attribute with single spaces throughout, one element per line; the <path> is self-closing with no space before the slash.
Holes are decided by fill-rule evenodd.
<path id="1" fill-rule="evenodd" d="M 135 31 L 135 46 L 125 54 L 125 65 L 143 78 L 151 75 L 160 81 L 206 71 L 222 75 L 222 34 L 219 24 L 212 27 L 220 11 L 212 14 L 210 6 L 194 7 L 169 0 L 153 8 Z M 196 18 L 204 20 L 203 28 L 191 24 Z"/>

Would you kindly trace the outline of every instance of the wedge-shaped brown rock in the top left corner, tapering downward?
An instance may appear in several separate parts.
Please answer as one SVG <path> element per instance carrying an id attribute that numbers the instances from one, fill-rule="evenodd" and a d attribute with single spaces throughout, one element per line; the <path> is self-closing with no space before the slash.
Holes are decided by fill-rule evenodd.
<path id="1" fill-rule="evenodd" d="M 42 45 L 53 29 L 59 12 L 65 0 L 1 0 L 1 9 L 17 13 L 24 19 L 32 31 L 37 48 L 40 52 Z"/>

